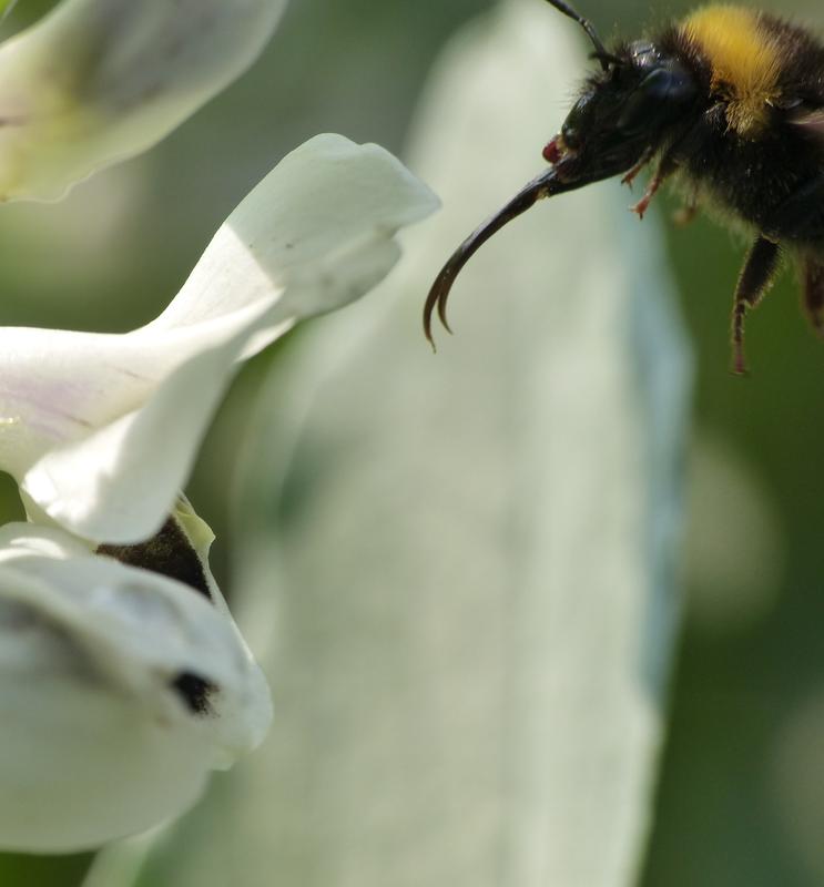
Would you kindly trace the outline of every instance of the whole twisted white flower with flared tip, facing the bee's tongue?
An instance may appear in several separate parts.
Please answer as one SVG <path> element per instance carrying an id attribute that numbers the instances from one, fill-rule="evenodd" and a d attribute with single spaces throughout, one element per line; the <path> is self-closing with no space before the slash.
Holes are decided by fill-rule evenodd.
<path id="1" fill-rule="evenodd" d="M 153 323 L 124 335 L 0 328 L 0 468 L 30 514 L 105 542 L 151 536 L 238 363 L 359 297 L 429 190 L 377 145 L 317 136 L 215 235 Z"/>

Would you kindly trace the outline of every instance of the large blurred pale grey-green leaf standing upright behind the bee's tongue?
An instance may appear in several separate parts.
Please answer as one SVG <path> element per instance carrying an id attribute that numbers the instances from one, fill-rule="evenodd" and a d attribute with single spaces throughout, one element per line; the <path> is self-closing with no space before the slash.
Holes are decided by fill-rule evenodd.
<path id="1" fill-rule="evenodd" d="M 576 37 L 533 0 L 461 35 L 417 116 L 444 213 L 384 313 L 316 325 L 264 392 L 236 562 L 278 730 L 153 887 L 235 859 L 244 887 L 635 883 L 689 379 L 655 218 L 617 182 L 546 202 L 467 266 L 437 356 L 419 332 L 450 249 L 540 170 Z"/>

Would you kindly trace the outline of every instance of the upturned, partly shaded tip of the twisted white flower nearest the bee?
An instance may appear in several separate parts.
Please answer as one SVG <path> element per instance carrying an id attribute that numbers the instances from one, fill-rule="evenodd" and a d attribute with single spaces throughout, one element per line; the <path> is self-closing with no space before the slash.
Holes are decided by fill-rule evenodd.
<path id="1" fill-rule="evenodd" d="M 395 264 L 394 237 L 438 198 L 379 145 L 316 135 L 226 220 L 150 329 L 182 327 L 282 290 L 282 319 L 339 308 Z"/>

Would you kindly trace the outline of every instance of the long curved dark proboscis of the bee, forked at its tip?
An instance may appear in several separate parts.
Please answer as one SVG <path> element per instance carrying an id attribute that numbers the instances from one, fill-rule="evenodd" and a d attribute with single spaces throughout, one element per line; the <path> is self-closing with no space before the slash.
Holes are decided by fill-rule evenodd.
<path id="1" fill-rule="evenodd" d="M 569 191 L 577 187 L 574 184 L 563 183 L 556 175 L 555 169 L 545 170 L 540 175 L 536 176 L 531 182 L 525 185 L 511 201 L 495 215 L 487 218 L 479 227 L 477 227 L 464 243 L 451 254 L 446 265 L 440 269 L 440 273 L 435 278 L 435 283 L 429 289 L 429 295 L 426 297 L 424 305 L 424 333 L 426 334 L 429 344 L 435 348 L 435 340 L 433 339 L 433 313 L 438 312 L 438 317 L 444 327 L 451 333 L 449 323 L 446 317 L 446 303 L 449 298 L 449 292 L 452 288 L 455 278 L 458 276 L 460 269 L 467 262 L 478 252 L 478 249 L 503 225 L 517 218 L 522 213 L 526 213 L 542 197 L 551 197 L 553 194 L 560 194 L 562 191 Z"/>

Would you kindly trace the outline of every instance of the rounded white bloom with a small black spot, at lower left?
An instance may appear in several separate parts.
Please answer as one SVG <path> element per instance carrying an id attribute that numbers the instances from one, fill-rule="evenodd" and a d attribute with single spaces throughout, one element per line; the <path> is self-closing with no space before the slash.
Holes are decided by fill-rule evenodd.
<path id="1" fill-rule="evenodd" d="M 271 720 L 222 609 L 82 548 L 59 530 L 0 530 L 4 849 L 92 847 L 176 815 Z M 214 685 L 203 711 L 174 689 L 184 675 Z"/>

